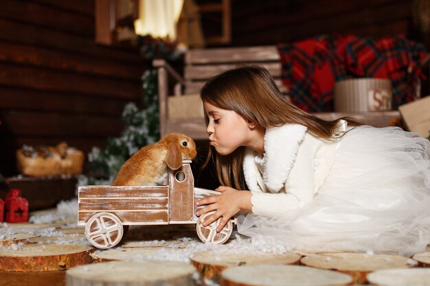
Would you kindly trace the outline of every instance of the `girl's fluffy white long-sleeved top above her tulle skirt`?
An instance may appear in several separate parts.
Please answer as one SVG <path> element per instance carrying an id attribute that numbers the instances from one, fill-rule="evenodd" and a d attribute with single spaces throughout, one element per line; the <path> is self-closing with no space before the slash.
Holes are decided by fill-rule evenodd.
<path id="1" fill-rule="evenodd" d="M 346 124 L 339 121 L 337 131 L 345 131 Z M 264 157 L 247 148 L 243 160 L 252 212 L 265 217 L 291 216 L 313 200 L 330 171 L 338 144 L 315 137 L 297 124 L 268 128 Z"/>

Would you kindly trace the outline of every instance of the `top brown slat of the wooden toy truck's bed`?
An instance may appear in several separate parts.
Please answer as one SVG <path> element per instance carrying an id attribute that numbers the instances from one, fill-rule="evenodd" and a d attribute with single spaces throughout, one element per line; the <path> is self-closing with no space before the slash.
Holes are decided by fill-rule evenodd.
<path id="1" fill-rule="evenodd" d="M 168 186 L 81 186 L 78 198 L 168 198 Z"/>

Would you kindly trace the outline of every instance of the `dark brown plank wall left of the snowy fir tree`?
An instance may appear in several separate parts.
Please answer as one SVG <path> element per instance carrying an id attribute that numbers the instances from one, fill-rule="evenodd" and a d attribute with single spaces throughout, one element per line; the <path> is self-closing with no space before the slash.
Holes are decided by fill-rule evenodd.
<path id="1" fill-rule="evenodd" d="M 141 102 L 137 49 L 94 42 L 93 0 L 0 4 L 0 173 L 16 174 L 23 144 L 66 141 L 85 152 L 122 130 Z"/>

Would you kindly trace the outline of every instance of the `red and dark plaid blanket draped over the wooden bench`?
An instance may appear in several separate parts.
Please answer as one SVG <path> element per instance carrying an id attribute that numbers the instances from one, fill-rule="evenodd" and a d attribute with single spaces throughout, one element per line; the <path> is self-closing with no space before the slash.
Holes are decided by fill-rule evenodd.
<path id="1" fill-rule="evenodd" d="M 392 82 L 392 106 L 416 99 L 420 60 L 427 54 L 420 43 L 404 36 L 360 38 L 319 36 L 278 45 L 282 82 L 294 104 L 308 112 L 333 111 L 333 87 L 346 78 L 385 78 Z"/>

